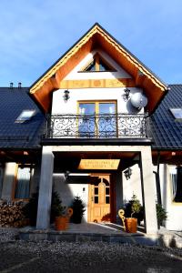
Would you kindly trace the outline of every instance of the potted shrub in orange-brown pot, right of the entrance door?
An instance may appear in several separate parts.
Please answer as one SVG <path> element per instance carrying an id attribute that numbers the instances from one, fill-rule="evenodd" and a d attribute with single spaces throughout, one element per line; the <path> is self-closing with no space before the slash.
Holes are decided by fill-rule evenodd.
<path id="1" fill-rule="evenodd" d="M 131 200 L 126 203 L 125 207 L 125 224 L 126 224 L 126 232 L 128 233 L 136 233 L 137 229 L 137 218 L 133 217 L 138 214 L 141 210 L 142 206 L 140 201 L 136 198 L 136 195 L 133 195 Z M 128 210 L 130 210 L 130 217 L 128 217 Z"/>

